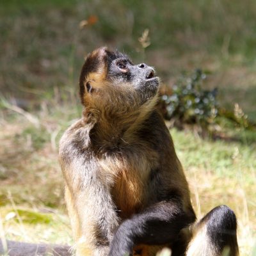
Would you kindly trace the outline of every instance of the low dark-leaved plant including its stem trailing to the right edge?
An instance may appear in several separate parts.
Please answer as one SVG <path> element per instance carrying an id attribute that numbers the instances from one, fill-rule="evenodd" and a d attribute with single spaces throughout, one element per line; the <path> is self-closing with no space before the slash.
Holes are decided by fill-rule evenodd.
<path id="1" fill-rule="evenodd" d="M 162 93 L 160 108 L 166 120 L 173 120 L 178 127 L 185 124 L 196 124 L 204 131 L 214 131 L 216 125 L 226 120 L 232 127 L 256 129 L 256 124 L 248 120 L 248 116 L 236 103 L 234 111 L 220 106 L 218 90 L 204 89 L 206 73 L 196 69 L 192 73 L 184 73 L 171 93 Z"/>

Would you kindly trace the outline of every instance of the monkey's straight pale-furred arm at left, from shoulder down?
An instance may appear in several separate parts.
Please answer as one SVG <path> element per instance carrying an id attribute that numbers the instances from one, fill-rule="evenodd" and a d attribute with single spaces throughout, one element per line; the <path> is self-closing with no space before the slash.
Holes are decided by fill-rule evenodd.
<path id="1" fill-rule="evenodd" d="M 118 226 L 109 184 L 90 149 L 90 129 L 80 120 L 63 134 L 60 164 L 76 255 L 107 255 Z M 102 179 L 99 179 L 102 177 Z"/>

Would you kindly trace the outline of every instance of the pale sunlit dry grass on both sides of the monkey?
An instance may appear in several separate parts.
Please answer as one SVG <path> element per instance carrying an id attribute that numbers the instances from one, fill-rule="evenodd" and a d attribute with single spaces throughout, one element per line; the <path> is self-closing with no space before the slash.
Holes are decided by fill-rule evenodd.
<path id="1" fill-rule="evenodd" d="M 51 113 L 45 110 L 49 106 L 34 113 L 38 127 L 10 110 L 1 115 L 0 216 L 8 239 L 72 244 L 56 148 L 61 133 L 78 115 L 67 104 L 55 107 Z M 241 255 L 252 256 L 255 143 L 202 140 L 191 131 L 175 129 L 171 133 L 198 217 L 216 205 L 231 207 L 238 219 Z"/>

